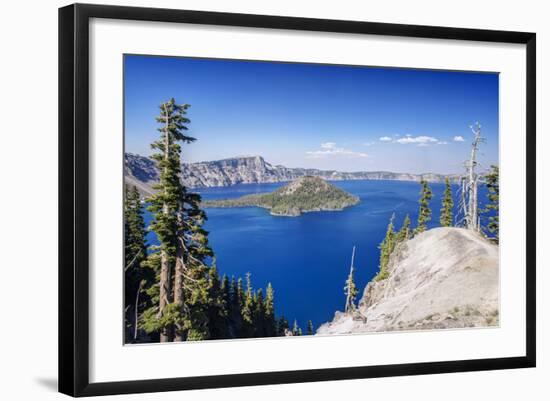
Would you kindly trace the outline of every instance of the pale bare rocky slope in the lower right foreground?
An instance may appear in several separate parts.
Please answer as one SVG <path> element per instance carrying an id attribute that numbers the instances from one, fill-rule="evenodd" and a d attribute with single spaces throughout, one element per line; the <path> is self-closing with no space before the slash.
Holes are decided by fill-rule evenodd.
<path id="1" fill-rule="evenodd" d="M 317 334 L 496 326 L 498 265 L 498 246 L 472 231 L 426 231 L 396 248 L 389 277 L 367 285 L 355 313 L 337 312 Z"/>

